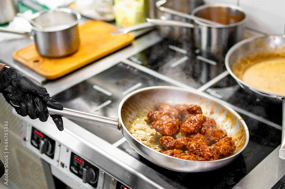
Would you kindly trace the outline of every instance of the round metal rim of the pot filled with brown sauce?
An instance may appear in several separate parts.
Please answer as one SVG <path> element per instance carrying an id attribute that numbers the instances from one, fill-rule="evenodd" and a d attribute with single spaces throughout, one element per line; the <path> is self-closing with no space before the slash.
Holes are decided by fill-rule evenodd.
<path id="1" fill-rule="evenodd" d="M 231 5 L 231 4 L 225 4 L 225 3 L 213 3 L 213 4 L 201 5 L 199 7 L 196 7 L 192 11 L 192 15 L 195 16 L 195 13 L 197 13 L 198 11 L 200 11 L 202 9 L 206 9 L 207 7 L 229 7 L 229 8 L 236 9 L 236 10 L 240 11 L 241 13 L 243 13 L 245 15 L 245 17 L 243 18 L 243 20 L 241 20 L 239 22 L 236 22 L 234 24 L 227 24 L 227 25 L 207 24 L 207 23 L 201 22 L 201 21 L 196 20 L 196 19 L 194 19 L 194 22 L 196 22 L 199 25 L 207 26 L 207 27 L 211 27 L 211 28 L 230 28 L 230 27 L 234 27 L 234 26 L 239 26 L 239 25 L 245 23 L 247 20 L 247 14 L 245 14 L 245 11 L 241 7 L 236 6 L 236 5 Z"/>

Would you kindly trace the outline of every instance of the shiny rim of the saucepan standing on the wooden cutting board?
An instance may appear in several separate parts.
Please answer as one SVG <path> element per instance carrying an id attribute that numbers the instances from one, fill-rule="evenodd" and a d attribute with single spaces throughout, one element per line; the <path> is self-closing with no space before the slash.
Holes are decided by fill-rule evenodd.
<path id="1" fill-rule="evenodd" d="M 42 14 L 45 14 L 45 13 L 57 13 L 57 12 L 64 12 L 64 13 L 69 13 L 69 14 L 74 14 L 76 16 L 76 20 L 72 23 L 72 24 L 68 24 L 69 27 L 68 28 L 65 28 L 65 29 L 61 29 L 61 30 L 48 30 L 48 31 L 45 31 L 44 29 L 41 30 L 39 28 L 36 28 L 34 27 L 31 23 L 30 23 L 30 26 L 32 26 L 32 30 L 35 30 L 35 31 L 38 31 L 38 32 L 58 32 L 58 31 L 63 31 L 63 30 L 67 30 L 69 28 L 72 28 L 73 26 L 77 25 L 80 18 L 81 18 L 81 15 L 78 11 L 75 11 L 73 9 L 68 9 L 68 8 L 56 8 L 56 9 L 48 9 L 48 10 L 42 10 L 42 11 L 38 11 L 37 13 L 34 13 L 32 15 L 32 18 L 30 20 L 33 20 L 34 18 L 42 15 Z"/>

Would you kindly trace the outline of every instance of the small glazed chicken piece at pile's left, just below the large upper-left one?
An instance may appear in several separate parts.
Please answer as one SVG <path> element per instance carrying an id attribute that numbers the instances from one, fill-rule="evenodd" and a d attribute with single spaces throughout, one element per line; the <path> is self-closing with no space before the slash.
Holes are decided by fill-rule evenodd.
<path id="1" fill-rule="evenodd" d="M 188 142 L 191 142 L 191 139 L 188 137 L 181 137 L 178 139 L 174 139 L 171 136 L 162 136 L 159 139 L 160 144 L 165 148 L 166 150 L 169 149 L 180 149 L 183 147 L 186 147 Z"/>

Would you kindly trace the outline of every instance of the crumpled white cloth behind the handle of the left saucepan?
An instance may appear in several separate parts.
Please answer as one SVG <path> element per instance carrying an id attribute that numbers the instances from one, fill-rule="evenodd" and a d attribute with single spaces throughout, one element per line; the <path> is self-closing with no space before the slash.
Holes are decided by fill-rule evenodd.
<path id="1" fill-rule="evenodd" d="M 30 32 L 31 31 L 31 25 L 29 21 L 26 19 L 32 18 L 32 11 L 28 10 L 23 13 L 25 18 L 21 16 L 15 16 L 14 19 L 9 23 L 9 25 L 6 28 L 15 29 L 18 31 L 24 31 L 24 32 Z M 0 42 L 4 40 L 15 40 L 15 39 L 21 39 L 25 36 L 18 35 L 18 34 L 9 34 L 9 33 L 3 33 L 0 32 Z"/>

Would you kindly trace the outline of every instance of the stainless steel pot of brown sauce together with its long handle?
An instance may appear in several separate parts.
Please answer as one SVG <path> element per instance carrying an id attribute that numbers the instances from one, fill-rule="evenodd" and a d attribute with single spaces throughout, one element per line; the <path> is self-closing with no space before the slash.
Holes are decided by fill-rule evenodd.
<path id="1" fill-rule="evenodd" d="M 162 0 L 163 1 L 163 0 Z M 159 1 L 158 1 L 159 2 Z M 158 3 L 157 2 L 157 3 Z M 168 2 L 168 1 L 167 1 Z M 168 13 L 167 13 L 168 14 Z M 192 11 L 192 15 L 201 17 L 211 21 L 215 21 L 221 24 L 207 24 L 197 20 L 195 17 L 194 24 L 190 25 L 187 22 L 178 22 L 173 20 L 160 20 L 160 19 L 146 19 L 149 23 L 142 23 L 127 28 L 120 28 L 119 30 L 112 32 L 113 34 L 124 34 L 127 32 L 143 29 L 146 27 L 168 26 L 164 32 L 168 33 L 169 37 L 173 36 L 172 30 L 169 28 L 175 26 L 180 28 L 186 28 L 182 34 L 175 33 L 179 39 L 191 38 L 191 29 L 194 28 L 194 40 L 196 48 L 200 49 L 202 55 L 207 58 L 224 59 L 226 52 L 229 48 L 243 39 L 243 31 L 245 27 L 246 15 L 241 8 L 235 5 L 228 4 L 207 4 L 197 7 Z M 181 14 L 183 16 L 183 14 Z M 190 16 L 187 16 L 189 19 Z M 189 20 L 188 19 L 188 20 Z M 191 18 L 192 19 L 192 18 Z M 186 32 L 187 31 L 187 32 Z M 160 32 L 161 29 L 160 29 Z"/>

